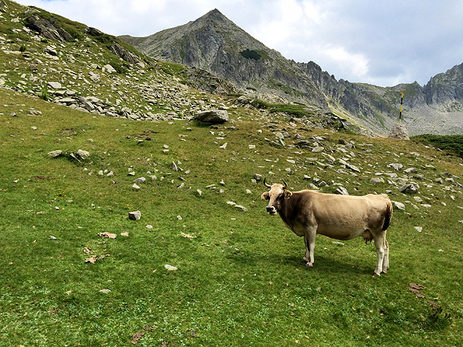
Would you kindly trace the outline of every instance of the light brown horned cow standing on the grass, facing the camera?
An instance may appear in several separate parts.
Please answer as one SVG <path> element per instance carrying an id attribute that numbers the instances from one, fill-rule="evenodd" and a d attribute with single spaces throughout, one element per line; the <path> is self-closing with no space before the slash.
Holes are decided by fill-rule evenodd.
<path id="1" fill-rule="evenodd" d="M 288 184 L 267 184 L 269 191 L 261 198 L 269 200 L 269 215 L 278 212 L 283 223 L 297 236 L 304 236 L 305 255 L 301 262 L 314 266 L 315 236 L 321 234 L 337 240 L 359 236 L 365 243 L 375 240 L 377 265 L 373 276 L 389 269 L 389 243 L 386 231 L 392 218 L 392 203 L 385 194 L 345 196 L 318 191 L 289 191 Z"/>

